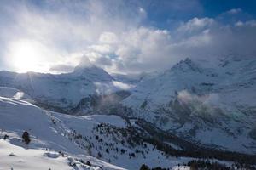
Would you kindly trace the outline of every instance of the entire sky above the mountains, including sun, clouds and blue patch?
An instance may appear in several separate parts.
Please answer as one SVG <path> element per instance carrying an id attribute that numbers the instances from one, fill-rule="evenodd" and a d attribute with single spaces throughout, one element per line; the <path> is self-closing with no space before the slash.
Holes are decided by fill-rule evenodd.
<path id="1" fill-rule="evenodd" d="M 254 0 L 0 0 L 0 70 L 110 73 L 256 56 Z"/>

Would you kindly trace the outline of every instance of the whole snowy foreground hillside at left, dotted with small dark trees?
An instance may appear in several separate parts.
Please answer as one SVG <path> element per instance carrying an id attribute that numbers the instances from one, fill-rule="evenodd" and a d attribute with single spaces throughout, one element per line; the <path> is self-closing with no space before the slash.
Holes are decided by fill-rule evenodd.
<path id="1" fill-rule="evenodd" d="M 143 163 L 152 167 L 174 167 L 190 160 L 166 157 L 152 144 L 147 144 L 147 155 L 136 153 L 136 150 L 144 150 L 143 146 L 131 147 L 127 141 L 121 142 L 121 136 L 114 136 L 117 129 L 126 131 L 127 128 L 127 123 L 119 116 L 69 116 L 44 111 L 24 99 L 0 97 L 0 117 L 0 168 L 73 169 L 75 167 L 68 166 L 73 159 L 79 169 L 94 169 L 87 168 L 86 161 L 103 169 L 139 169 Z M 102 133 L 105 130 L 114 133 Z M 30 133 L 29 145 L 20 138 L 24 131 Z M 8 142 L 3 141 L 5 134 L 9 136 Z M 15 156 L 9 156 L 12 152 Z M 40 167 L 39 162 L 44 166 Z"/>

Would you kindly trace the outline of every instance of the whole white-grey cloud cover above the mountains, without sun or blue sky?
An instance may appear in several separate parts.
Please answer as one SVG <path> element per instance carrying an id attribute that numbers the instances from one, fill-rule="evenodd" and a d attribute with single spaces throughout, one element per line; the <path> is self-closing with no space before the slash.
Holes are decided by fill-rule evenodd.
<path id="1" fill-rule="evenodd" d="M 187 57 L 208 60 L 230 53 L 255 56 L 255 20 L 225 25 L 213 18 L 192 18 L 165 30 L 148 26 L 150 23 L 143 25 L 149 10 L 135 4 L 47 1 L 42 9 L 23 1 L 7 3 L 0 13 L 10 21 L 0 21 L 0 43 L 9 46 L 26 37 L 43 44 L 44 51 L 51 54 L 50 62 L 41 64 L 55 72 L 72 71 L 84 57 L 107 71 L 132 73 L 164 70 Z M 185 7 L 178 4 L 173 1 L 160 5 L 171 5 L 175 11 L 197 6 L 196 1 L 189 1 Z M 242 11 L 236 8 L 228 13 Z"/>

